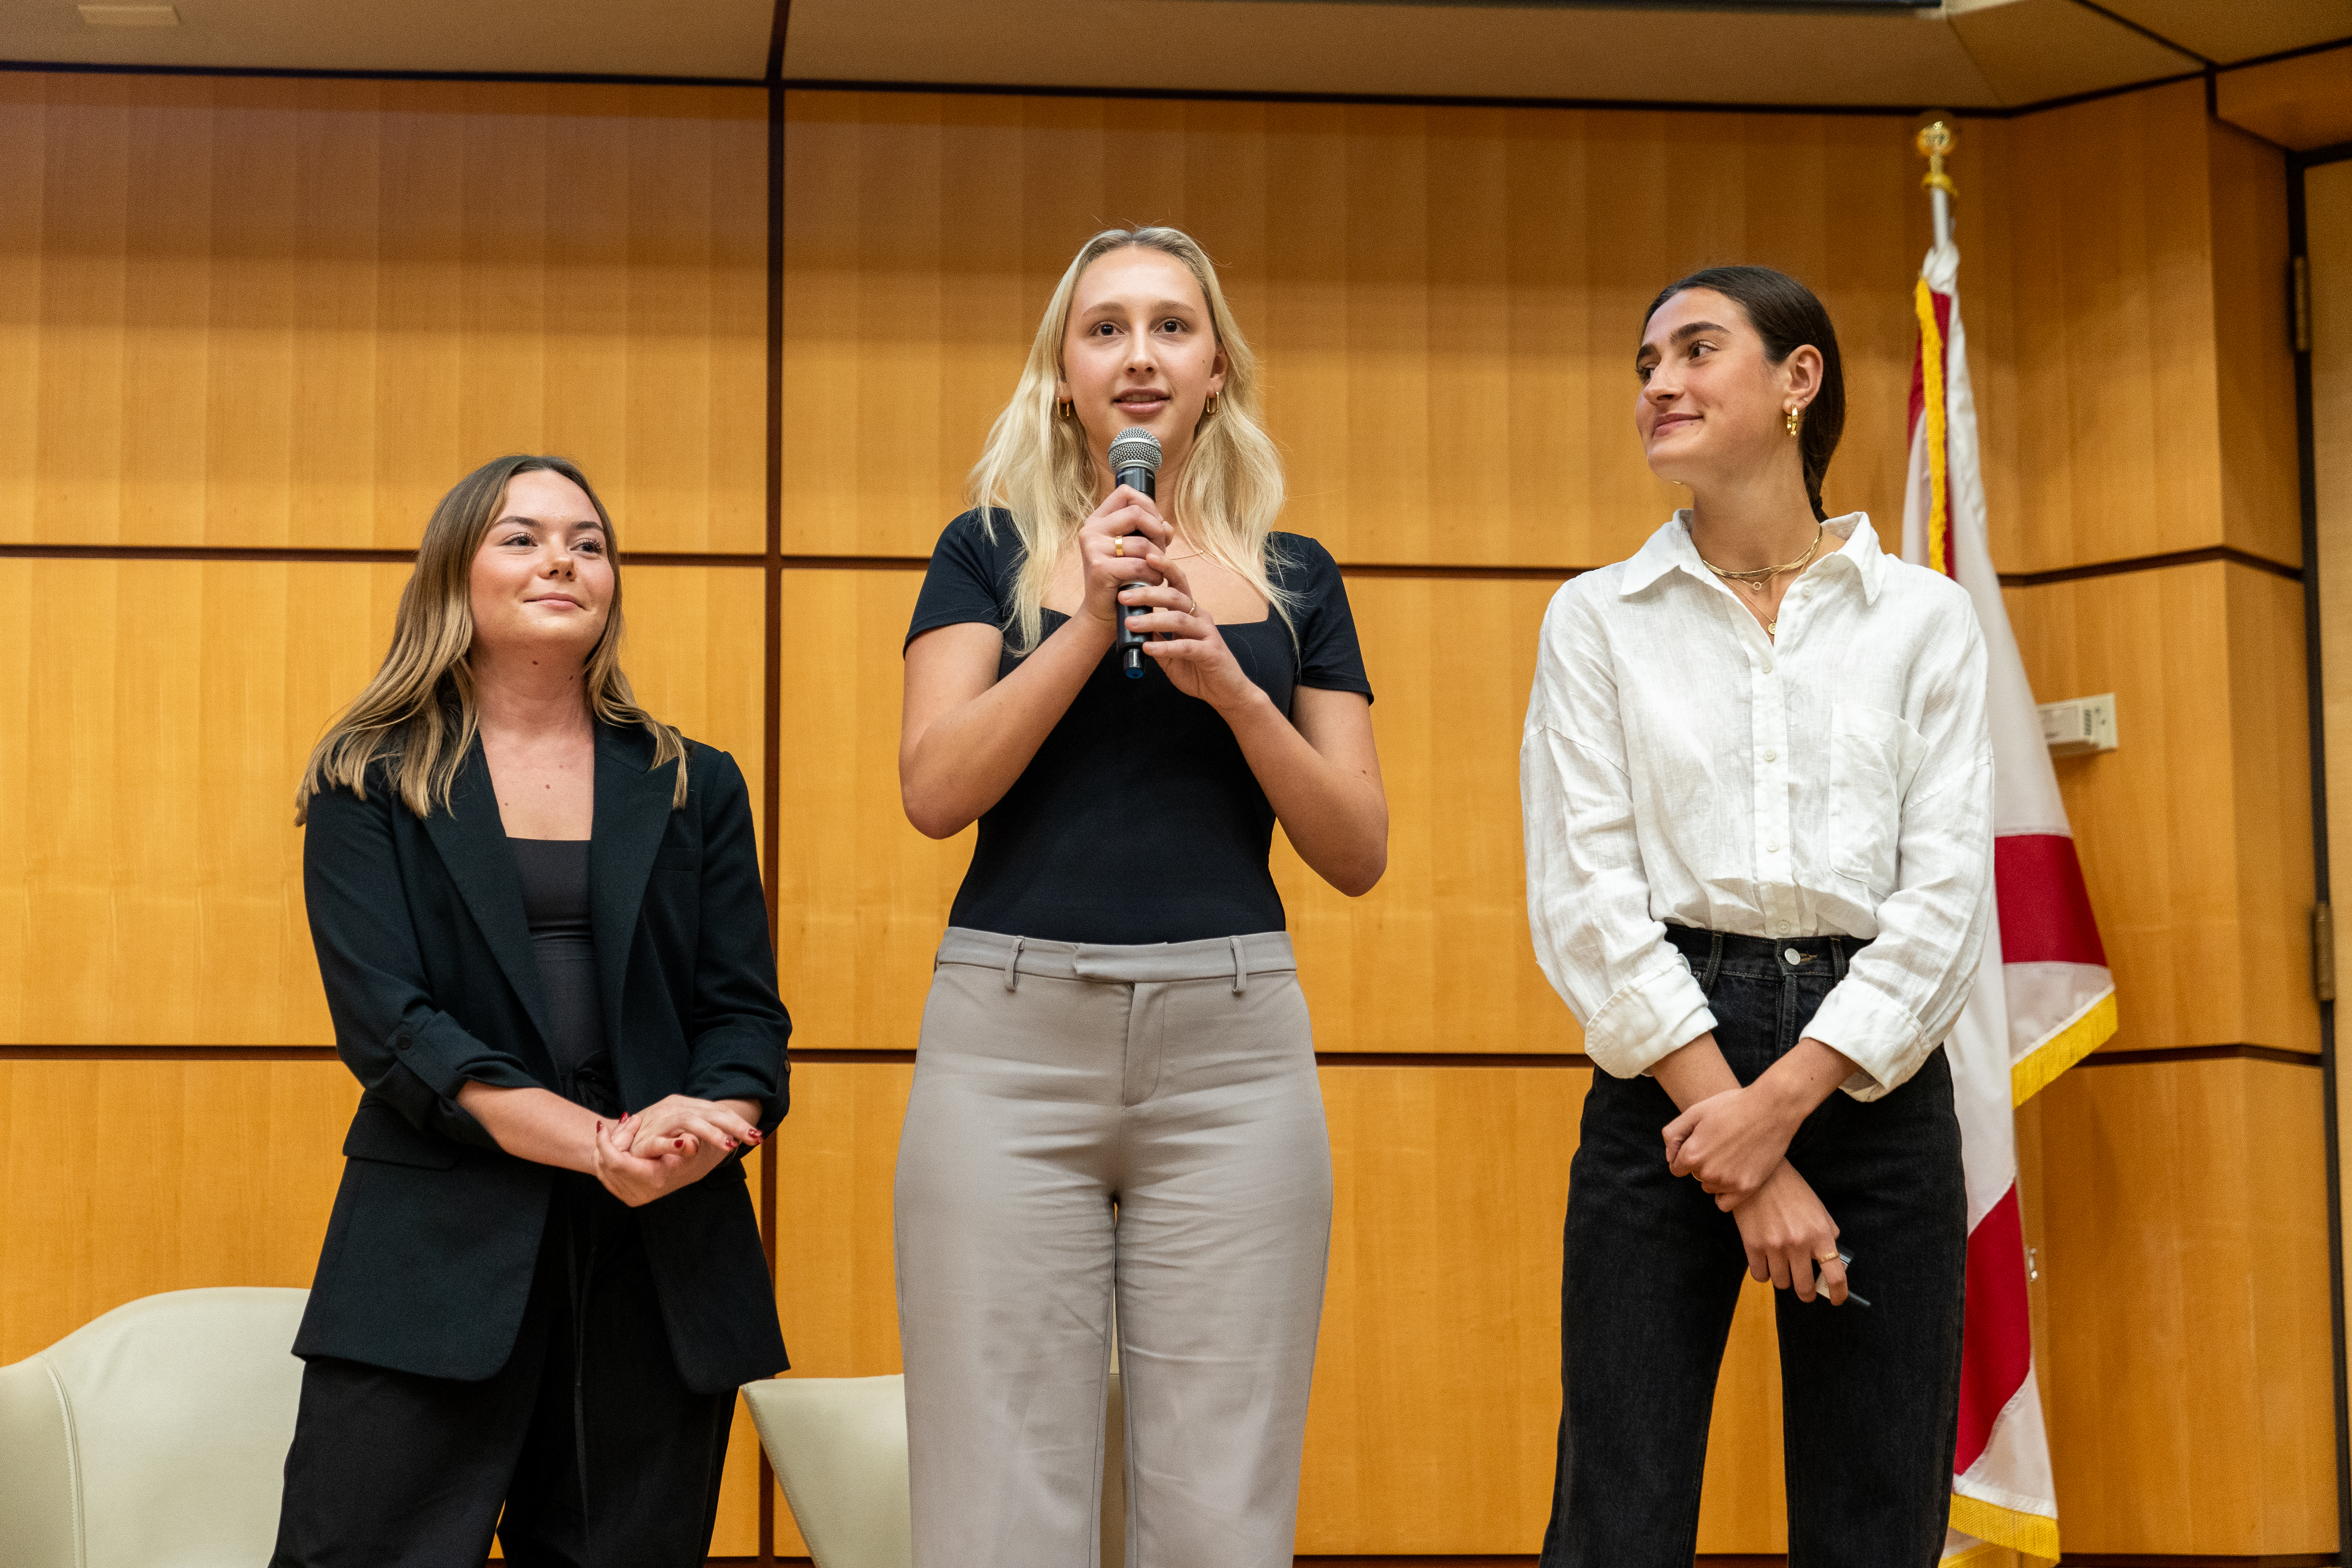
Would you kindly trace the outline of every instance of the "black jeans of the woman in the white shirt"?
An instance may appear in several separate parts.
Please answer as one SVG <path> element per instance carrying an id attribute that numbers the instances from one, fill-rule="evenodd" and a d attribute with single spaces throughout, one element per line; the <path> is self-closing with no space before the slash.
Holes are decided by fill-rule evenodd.
<path id="1" fill-rule="evenodd" d="M 1851 938 L 1668 926 L 1755 1081 L 1844 978 Z M 1792 961 L 1795 959 L 1795 961 Z M 1715 1375 L 1748 1269 L 1738 1222 L 1665 1166 L 1675 1103 L 1595 1074 L 1569 1171 L 1562 1420 L 1543 1568 L 1691 1568 Z M 1969 1201 L 1943 1051 L 1893 1093 L 1832 1093 L 1788 1150 L 1870 1307 L 1778 1293 L 1790 1568 L 1933 1568 L 1959 1429 Z"/>

